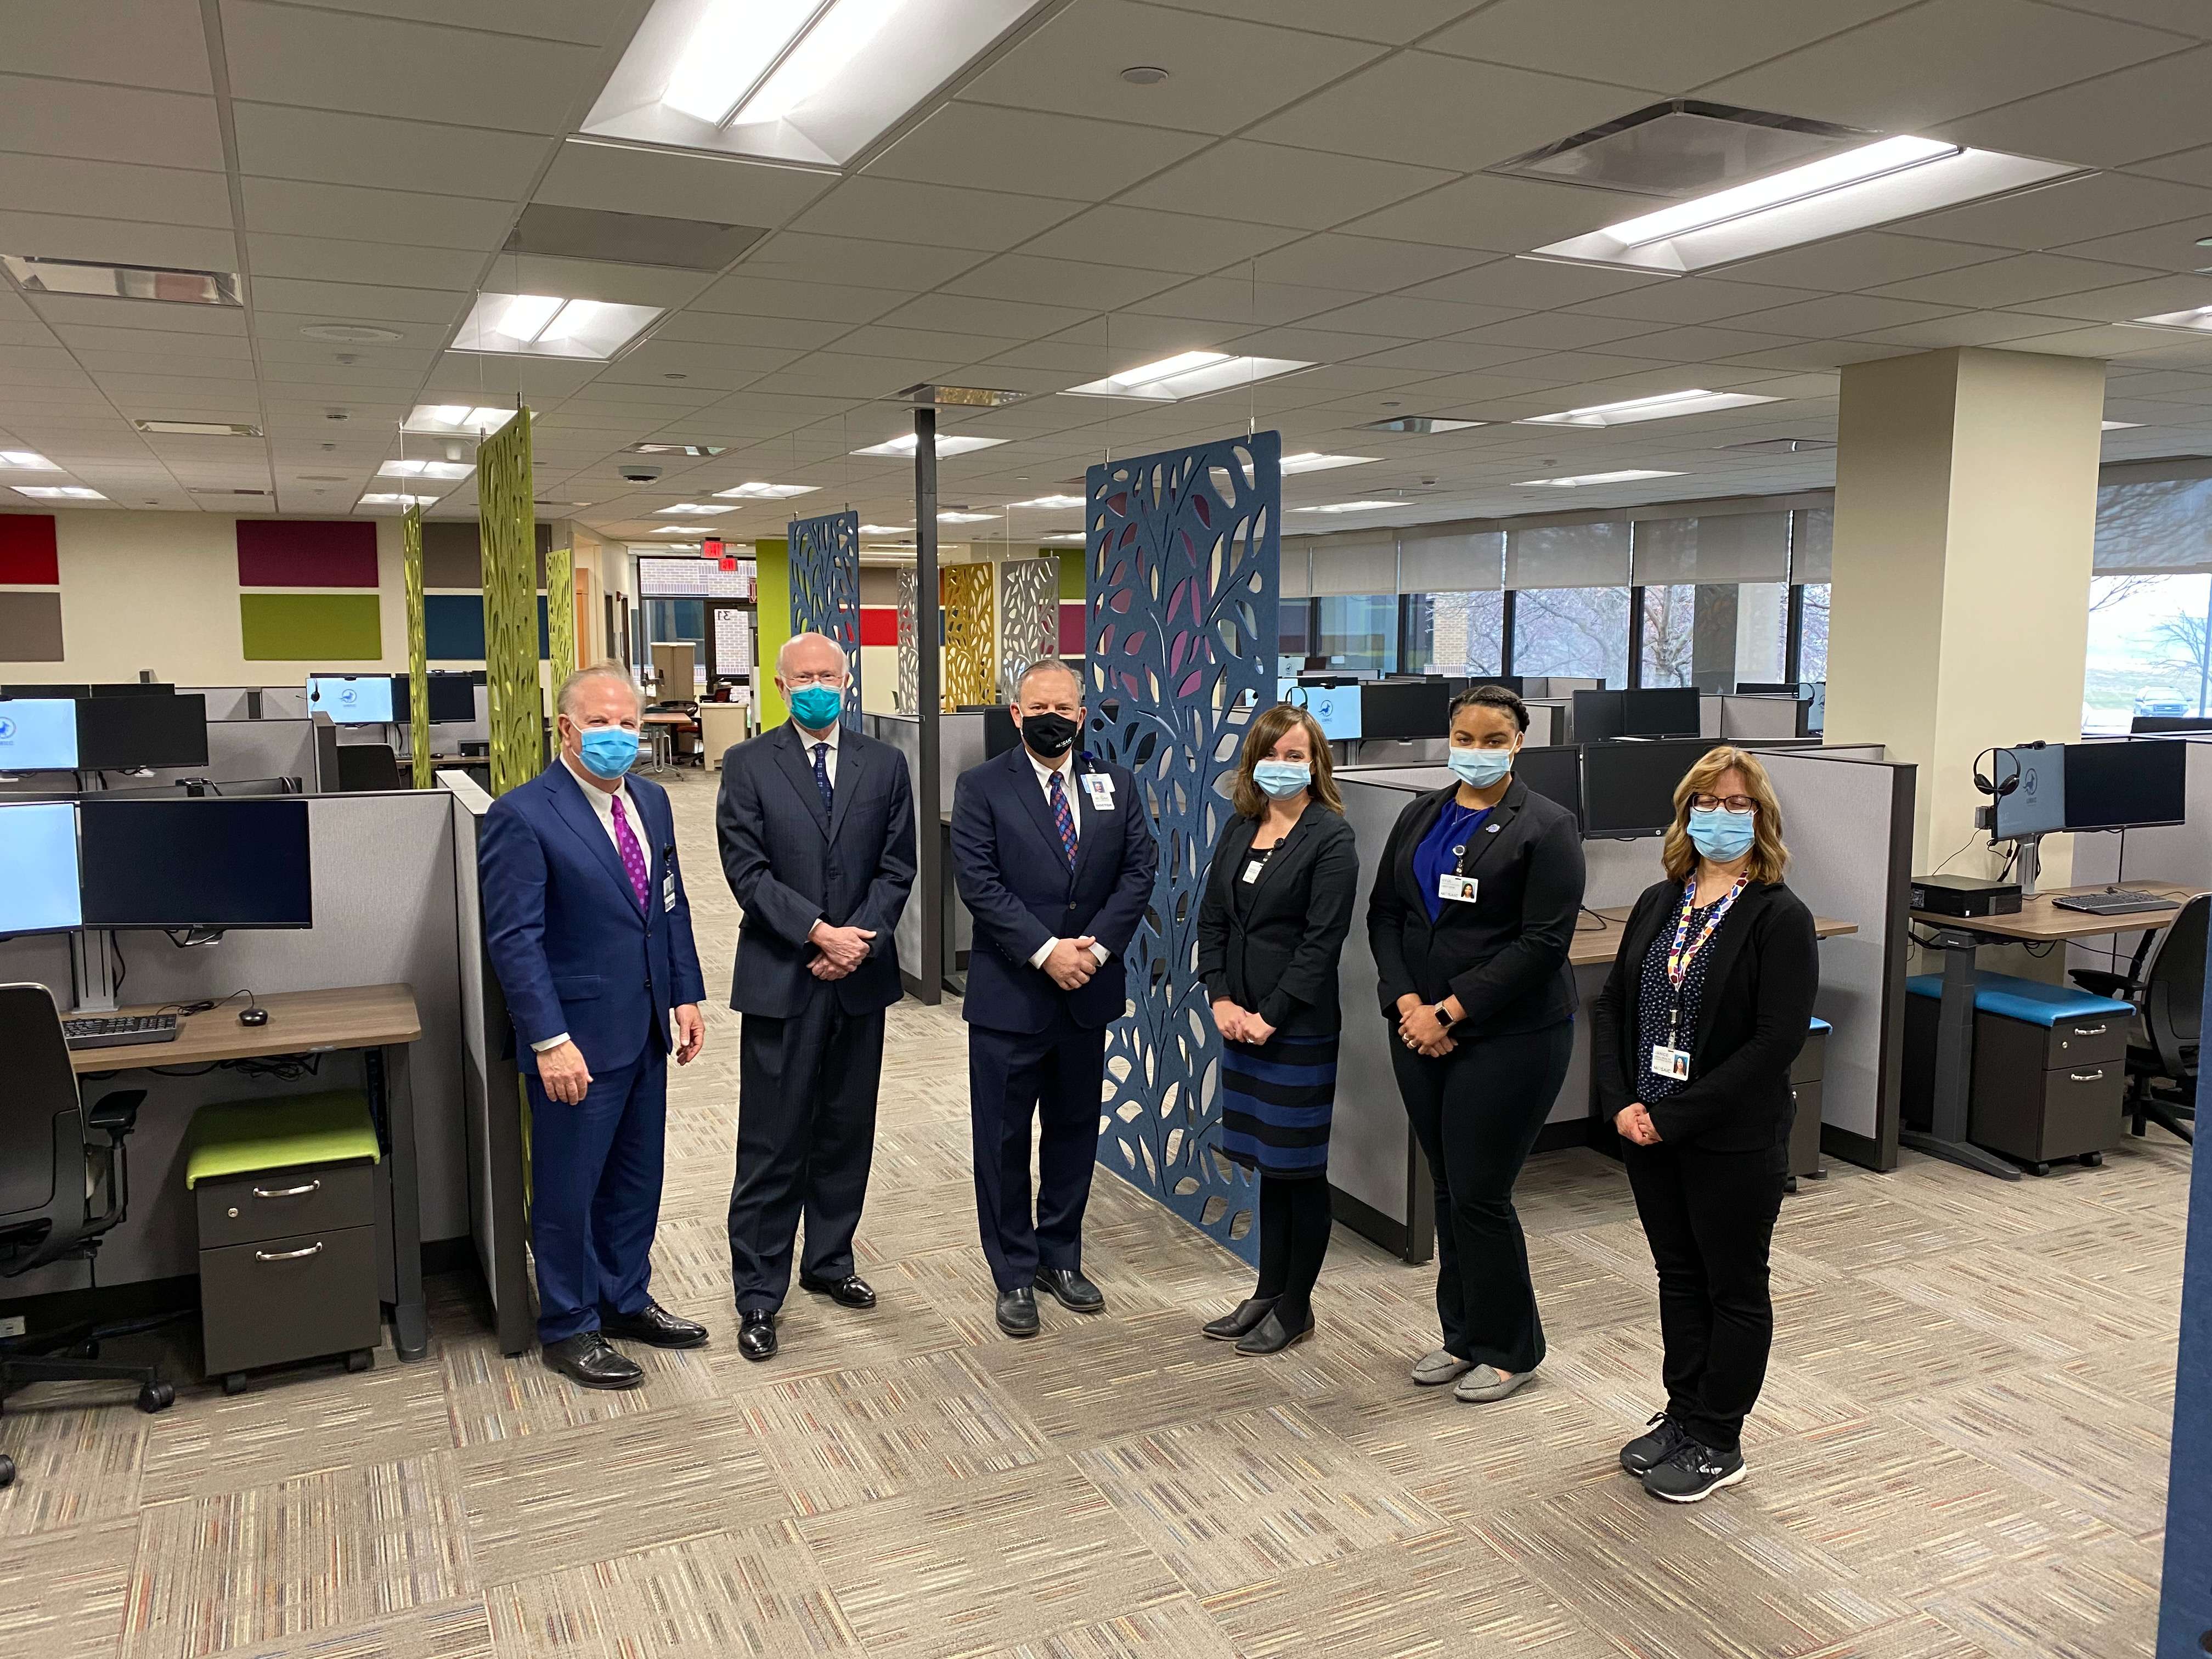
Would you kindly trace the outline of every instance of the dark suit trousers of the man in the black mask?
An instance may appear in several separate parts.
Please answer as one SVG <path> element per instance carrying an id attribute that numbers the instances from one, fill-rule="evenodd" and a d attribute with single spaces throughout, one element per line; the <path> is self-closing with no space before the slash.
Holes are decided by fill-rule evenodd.
<path id="1" fill-rule="evenodd" d="M 1053 1015 L 1044 1031 L 969 1026 L 969 1117 L 975 1133 L 975 1221 L 1000 1290 L 1037 1267 L 1084 1265 L 1084 1206 L 1099 1155 L 1106 1029 Z M 1037 1199 L 1029 1197 L 1029 1137 L 1037 1137 Z"/>

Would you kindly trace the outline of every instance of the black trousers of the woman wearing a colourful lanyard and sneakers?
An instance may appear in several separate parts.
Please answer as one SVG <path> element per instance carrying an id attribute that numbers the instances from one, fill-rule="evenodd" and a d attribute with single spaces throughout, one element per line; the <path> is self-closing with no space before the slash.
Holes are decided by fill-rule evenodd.
<path id="1" fill-rule="evenodd" d="M 1621 1144 L 1644 1237 L 1659 1267 L 1666 1409 L 1717 1451 L 1734 1451 L 1774 1345 L 1767 1245 L 1783 1172 L 1767 1152 Z"/>

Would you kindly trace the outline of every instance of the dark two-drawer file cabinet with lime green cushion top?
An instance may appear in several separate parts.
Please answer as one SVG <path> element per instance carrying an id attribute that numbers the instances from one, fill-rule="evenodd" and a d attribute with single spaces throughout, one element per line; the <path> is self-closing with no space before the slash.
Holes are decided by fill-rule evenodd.
<path id="1" fill-rule="evenodd" d="M 199 1210 L 201 1343 L 223 1394 L 290 1360 L 369 1369 L 383 1336 L 376 1155 L 354 1091 L 192 1113 L 184 1181 Z"/>

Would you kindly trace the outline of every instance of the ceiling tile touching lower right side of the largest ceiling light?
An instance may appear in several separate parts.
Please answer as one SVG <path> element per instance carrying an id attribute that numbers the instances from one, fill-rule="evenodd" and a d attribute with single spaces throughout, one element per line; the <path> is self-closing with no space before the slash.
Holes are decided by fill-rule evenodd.
<path id="1" fill-rule="evenodd" d="M 1097 201 L 1203 142 L 1077 115 L 947 104 L 869 161 L 867 175 Z"/>

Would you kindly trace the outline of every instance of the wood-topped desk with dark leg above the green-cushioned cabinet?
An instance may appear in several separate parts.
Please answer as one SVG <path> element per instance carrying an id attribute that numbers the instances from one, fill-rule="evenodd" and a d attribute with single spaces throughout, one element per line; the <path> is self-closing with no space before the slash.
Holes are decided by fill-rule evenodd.
<path id="1" fill-rule="evenodd" d="M 86 1073 L 144 1071 L 150 1066 L 208 1066 L 223 1060 L 274 1060 L 363 1048 L 369 1055 L 369 1106 L 376 1113 L 383 1161 L 383 1214 L 376 1223 L 383 1301 L 392 1305 L 392 1345 L 403 1360 L 429 1349 L 422 1305 L 422 1194 L 416 1177 L 414 1091 L 407 1044 L 422 1035 L 414 991 L 405 984 L 352 984 L 336 991 L 272 991 L 259 998 L 265 1026 L 241 1026 L 237 1002 L 190 1013 L 177 1022 L 175 1042 L 122 1048 L 71 1048 L 69 1068 Z M 119 1013 L 159 1013 L 157 1006 Z"/>

